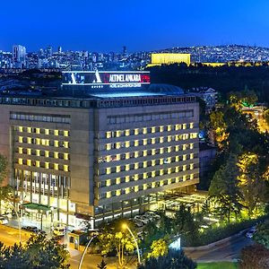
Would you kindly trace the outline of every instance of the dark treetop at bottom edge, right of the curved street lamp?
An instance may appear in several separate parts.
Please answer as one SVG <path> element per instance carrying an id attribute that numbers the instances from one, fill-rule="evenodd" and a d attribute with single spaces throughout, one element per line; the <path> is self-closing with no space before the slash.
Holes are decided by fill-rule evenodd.
<path id="1" fill-rule="evenodd" d="M 138 269 L 195 269 L 195 262 L 185 256 L 183 250 L 169 249 L 166 256 L 151 257 L 146 259 Z"/>

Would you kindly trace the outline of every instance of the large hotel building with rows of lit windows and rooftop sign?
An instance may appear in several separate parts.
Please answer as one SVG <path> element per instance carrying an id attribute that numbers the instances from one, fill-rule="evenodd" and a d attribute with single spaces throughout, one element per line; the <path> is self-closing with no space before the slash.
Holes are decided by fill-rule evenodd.
<path id="1" fill-rule="evenodd" d="M 53 221 L 78 227 L 195 190 L 195 97 L 126 74 L 111 82 L 111 73 L 68 72 L 56 97 L 0 97 L 0 151 L 21 203 L 47 205 Z"/>

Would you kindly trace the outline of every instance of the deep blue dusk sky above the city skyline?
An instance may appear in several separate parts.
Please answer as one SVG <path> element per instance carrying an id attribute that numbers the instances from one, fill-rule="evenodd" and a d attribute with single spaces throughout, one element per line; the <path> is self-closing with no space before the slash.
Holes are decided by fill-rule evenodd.
<path id="1" fill-rule="evenodd" d="M 269 47 L 268 13 L 268 0 L 2 0 L 0 50 Z"/>

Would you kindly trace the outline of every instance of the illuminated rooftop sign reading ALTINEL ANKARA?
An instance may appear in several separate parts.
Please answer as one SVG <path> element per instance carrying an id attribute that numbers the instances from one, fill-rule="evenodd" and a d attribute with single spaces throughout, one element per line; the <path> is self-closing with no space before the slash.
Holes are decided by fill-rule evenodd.
<path id="1" fill-rule="evenodd" d="M 150 84 L 150 72 L 64 71 L 63 85 L 85 85 L 91 88 L 137 88 Z"/>

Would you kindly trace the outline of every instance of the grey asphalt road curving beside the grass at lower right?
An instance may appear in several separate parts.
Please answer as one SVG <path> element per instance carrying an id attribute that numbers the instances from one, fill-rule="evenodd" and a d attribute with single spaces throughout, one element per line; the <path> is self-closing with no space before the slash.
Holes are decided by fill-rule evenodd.
<path id="1" fill-rule="evenodd" d="M 233 261 L 240 256 L 243 247 L 253 244 L 244 235 L 234 236 L 229 241 L 204 250 L 185 250 L 187 256 L 197 262 Z"/>

